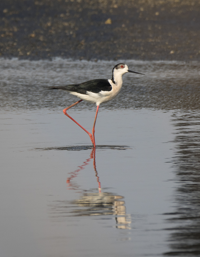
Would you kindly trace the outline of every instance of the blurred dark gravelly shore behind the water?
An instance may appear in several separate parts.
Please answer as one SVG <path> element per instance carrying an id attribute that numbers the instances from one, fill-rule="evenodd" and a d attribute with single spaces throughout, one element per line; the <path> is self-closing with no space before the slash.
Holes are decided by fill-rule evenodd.
<path id="1" fill-rule="evenodd" d="M 1 0 L 0 56 L 200 60 L 199 0 Z"/>

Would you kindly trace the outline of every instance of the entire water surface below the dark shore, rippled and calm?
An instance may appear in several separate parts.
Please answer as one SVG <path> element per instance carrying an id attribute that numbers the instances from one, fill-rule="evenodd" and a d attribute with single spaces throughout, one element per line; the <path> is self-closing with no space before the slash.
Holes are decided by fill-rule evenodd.
<path id="1" fill-rule="evenodd" d="M 200 255 L 200 64 L 126 63 L 145 76 L 100 106 L 94 152 L 44 87 L 116 63 L 0 59 L 1 256 Z M 95 109 L 69 113 L 91 131 Z"/>

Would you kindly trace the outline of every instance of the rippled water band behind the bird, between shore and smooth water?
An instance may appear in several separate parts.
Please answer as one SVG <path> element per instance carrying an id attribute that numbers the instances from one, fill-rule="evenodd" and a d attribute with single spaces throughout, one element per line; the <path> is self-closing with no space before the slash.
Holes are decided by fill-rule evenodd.
<path id="1" fill-rule="evenodd" d="M 118 61 L 119 62 L 119 61 Z M 106 109 L 153 108 L 199 109 L 199 63 L 163 61 L 127 61 L 133 70 L 145 76 L 126 74 L 123 93 L 102 105 Z M 76 101 L 66 92 L 45 91 L 45 87 L 66 85 L 88 79 L 111 78 L 115 62 L 87 62 L 62 59 L 30 62 L 1 59 L 1 107 L 55 109 Z M 7 85 L 10 85 L 9 87 Z M 52 97 L 53 96 L 53 97 Z M 20 101 L 19 101 L 20 99 Z M 91 109 L 88 103 L 76 108 Z"/>

